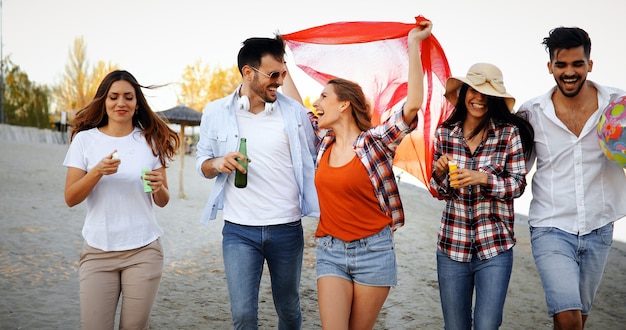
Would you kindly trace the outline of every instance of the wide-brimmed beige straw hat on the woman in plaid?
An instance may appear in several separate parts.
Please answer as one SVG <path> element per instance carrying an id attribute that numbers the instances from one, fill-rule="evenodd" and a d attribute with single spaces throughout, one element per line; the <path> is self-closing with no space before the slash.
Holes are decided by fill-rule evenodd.
<path id="1" fill-rule="evenodd" d="M 504 98 L 506 106 L 509 110 L 513 110 L 515 98 L 506 92 L 502 71 L 497 66 L 489 63 L 476 63 L 469 68 L 465 77 L 448 78 L 444 96 L 453 105 L 456 105 L 459 90 L 464 83 L 481 94 Z"/>

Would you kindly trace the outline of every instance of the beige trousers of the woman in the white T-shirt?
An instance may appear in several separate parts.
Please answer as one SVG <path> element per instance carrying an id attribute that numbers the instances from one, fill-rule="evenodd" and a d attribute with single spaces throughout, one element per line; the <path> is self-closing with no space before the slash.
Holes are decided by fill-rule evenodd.
<path id="1" fill-rule="evenodd" d="M 133 250 L 106 252 L 83 244 L 80 318 L 83 330 L 111 330 L 120 295 L 119 329 L 148 329 L 163 273 L 160 239 Z"/>

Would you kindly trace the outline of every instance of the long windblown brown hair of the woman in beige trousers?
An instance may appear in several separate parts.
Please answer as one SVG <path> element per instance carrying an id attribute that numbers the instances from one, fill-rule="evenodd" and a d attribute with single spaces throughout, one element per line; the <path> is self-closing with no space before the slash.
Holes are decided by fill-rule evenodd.
<path id="1" fill-rule="evenodd" d="M 71 125 L 73 128 L 70 134 L 70 141 L 80 131 L 103 127 L 109 123 L 105 101 L 111 85 L 116 81 L 127 81 L 135 89 L 138 108 L 133 116 L 133 126 L 142 130 L 141 134 L 152 148 L 152 154 L 160 158 L 163 167 L 167 167 L 167 160 L 172 161 L 179 150 L 180 138 L 174 130 L 167 126 L 165 120 L 152 111 L 142 91 L 142 88 L 152 89 L 159 86 L 142 86 L 128 71 L 115 70 L 102 79 L 93 100 L 80 109 L 76 113 L 74 120 L 72 120 Z"/>

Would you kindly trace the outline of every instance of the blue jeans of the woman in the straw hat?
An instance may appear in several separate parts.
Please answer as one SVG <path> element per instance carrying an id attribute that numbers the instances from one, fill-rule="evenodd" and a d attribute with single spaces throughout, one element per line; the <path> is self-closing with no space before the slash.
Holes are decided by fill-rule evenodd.
<path id="1" fill-rule="evenodd" d="M 454 261 L 437 249 L 437 277 L 445 329 L 472 329 L 472 296 L 476 290 L 474 329 L 498 329 L 513 269 L 513 249 L 471 262 Z"/>

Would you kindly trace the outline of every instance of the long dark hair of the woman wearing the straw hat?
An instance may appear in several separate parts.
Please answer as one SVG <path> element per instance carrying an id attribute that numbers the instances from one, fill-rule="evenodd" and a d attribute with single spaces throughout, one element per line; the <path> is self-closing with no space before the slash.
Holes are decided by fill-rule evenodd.
<path id="1" fill-rule="evenodd" d="M 458 122 L 465 121 L 467 118 L 467 107 L 465 106 L 465 96 L 469 86 L 463 84 L 459 90 L 459 98 L 450 114 L 450 117 L 446 119 L 441 125 L 446 127 L 452 127 Z M 484 94 L 483 94 L 484 95 Z M 476 134 L 480 133 L 483 129 L 489 126 L 489 121 L 498 124 L 512 124 L 517 126 L 522 139 L 522 147 L 524 148 L 524 156 L 530 158 L 533 151 L 533 141 L 535 139 L 535 131 L 530 123 L 520 116 L 511 113 L 509 108 L 504 102 L 504 98 L 485 95 L 487 97 L 487 115 L 484 116 L 478 126 L 470 133 L 469 138 L 473 138 Z"/>

